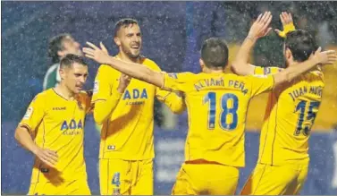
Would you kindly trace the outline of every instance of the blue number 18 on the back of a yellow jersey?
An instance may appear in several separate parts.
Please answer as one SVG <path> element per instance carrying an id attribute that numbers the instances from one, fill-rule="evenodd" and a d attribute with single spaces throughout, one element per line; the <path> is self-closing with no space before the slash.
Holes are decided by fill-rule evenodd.
<path id="1" fill-rule="evenodd" d="M 232 106 L 229 105 L 229 100 L 232 100 Z M 215 115 L 216 115 L 216 93 L 208 92 L 203 100 L 204 104 L 208 103 L 208 129 L 215 129 Z M 232 93 L 224 94 L 221 98 L 220 108 L 220 127 L 225 131 L 232 131 L 238 126 L 238 108 L 239 99 Z M 228 122 L 227 115 L 231 115 L 232 121 Z"/>

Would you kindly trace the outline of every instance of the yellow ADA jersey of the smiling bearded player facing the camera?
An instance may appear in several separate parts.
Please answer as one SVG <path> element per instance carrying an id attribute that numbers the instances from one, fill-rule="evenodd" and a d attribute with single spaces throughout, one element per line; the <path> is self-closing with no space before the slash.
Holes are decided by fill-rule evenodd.
<path id="1" fill-rule="evenodd" d="M 142 58 L 141 64 L 160 71 L 158 65 L 148 58 Z M 100 65 L 92 102 L 107 100 L 118 94 L 121 74 L 109 65 Z M 131 79 L 114 111 L 102 125 L 99 158 L 142 160 L 155 157 L 153 135 L 155 97 L 171 109 L 185 108 L 183 99 L 175 93 L 156 88 L 144 81 Z"/>

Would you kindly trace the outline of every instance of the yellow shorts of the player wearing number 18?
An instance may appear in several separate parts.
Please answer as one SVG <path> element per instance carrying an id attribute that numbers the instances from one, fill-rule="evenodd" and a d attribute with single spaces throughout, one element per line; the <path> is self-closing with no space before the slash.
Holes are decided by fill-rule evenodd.
<path id="1" fill-rule="evenodd" d="M 173 195 L 233 195 L 239 181 L 239 168 L 217 164 L 181 166 Z"/>

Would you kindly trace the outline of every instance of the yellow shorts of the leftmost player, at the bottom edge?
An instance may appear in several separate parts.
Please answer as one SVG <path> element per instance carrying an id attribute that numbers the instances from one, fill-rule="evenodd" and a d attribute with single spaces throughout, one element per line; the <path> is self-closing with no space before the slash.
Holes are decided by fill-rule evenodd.
<path id="1" fill-rule="evenodd" d="M 60 184 L 30 183 L 28 195 L 91 195 L 87 180 L 74 180 Z"/>

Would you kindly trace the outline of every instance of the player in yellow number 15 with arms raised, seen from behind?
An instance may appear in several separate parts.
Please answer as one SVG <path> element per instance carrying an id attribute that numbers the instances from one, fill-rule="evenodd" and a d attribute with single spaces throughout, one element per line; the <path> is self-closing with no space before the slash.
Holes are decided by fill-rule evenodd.
<path id="1" fill-rule="evenodd" d="M 301 63 L 312 59 L 310 56 L 315 53 L 315 40 L 305 30 L 294 30 L 291 14 L 282 13 L 280 17 L 284 30 L 277 32 L 280 36 L 286 35 L 285 65 L 301 69 Z M 241 75 L 270 75 L 282 71 L 278 67 L 248 64 L 249 49 L 255 42 L 256 38 L 245 40 L 244 45 L 248 47 L 241 47 L 232 64 L 234 71 Z M 257 166 L 241 194 L 299 194 L 308 175 L 308 139 L 323 89 L 323 73 L 317 67 L 273 89 L 260 135 Z"/>

